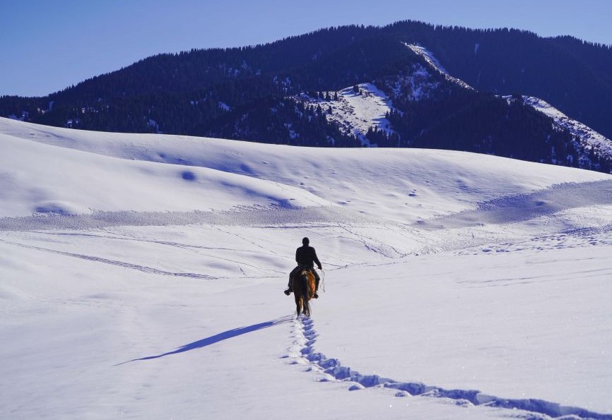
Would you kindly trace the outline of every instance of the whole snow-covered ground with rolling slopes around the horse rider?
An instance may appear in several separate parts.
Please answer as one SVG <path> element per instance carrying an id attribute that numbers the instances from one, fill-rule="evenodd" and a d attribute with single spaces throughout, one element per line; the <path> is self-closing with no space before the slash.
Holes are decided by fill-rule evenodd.
<path id="1" fill-rule="evenodd" d="M 596 172 L 0 119 L 0 418 L 612 419 L 611 231 Z"/>

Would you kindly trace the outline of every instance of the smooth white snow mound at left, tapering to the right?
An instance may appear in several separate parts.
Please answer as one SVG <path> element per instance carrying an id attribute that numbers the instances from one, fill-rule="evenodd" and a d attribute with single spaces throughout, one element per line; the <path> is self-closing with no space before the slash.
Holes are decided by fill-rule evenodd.
<path id="1" fill-rule="evenodd" d="M 327 202 L 299 188 L 216 169 L 160 165 L 59 149 L 0 134 L 0 216 L 92 210 L 227 210 Z M 40 180 L 45 179 L 45 183 Z M 206 194 L 224 185 L 214 200 Z M 146 188 L 143 187 L 146 185 Z"/>

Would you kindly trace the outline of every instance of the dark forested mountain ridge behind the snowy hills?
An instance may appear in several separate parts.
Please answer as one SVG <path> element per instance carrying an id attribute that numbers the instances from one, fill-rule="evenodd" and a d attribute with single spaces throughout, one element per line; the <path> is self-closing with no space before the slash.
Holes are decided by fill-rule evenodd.
<path id="1" fill-rule="evenodd" d="M 432 68 L 409 47 L 415 44 L 473 89 Z M 610 170 L 612 157 L 601 153 L 581 164 L 588 150 L 520 95 L 541 97 L 612 137 L 612 49 L 519 30 L 405 21 L 160 54 L 47 97 L 1 97 L 0 116 L 98 131 L 354 147 L 362 142 L 329 118 L 325 103 L 358 83 L 372 83 L 393 104 L 392 132 L 370 129 L 370 144 Z M 511 94 L 514 100 L 498 96 Z"/>

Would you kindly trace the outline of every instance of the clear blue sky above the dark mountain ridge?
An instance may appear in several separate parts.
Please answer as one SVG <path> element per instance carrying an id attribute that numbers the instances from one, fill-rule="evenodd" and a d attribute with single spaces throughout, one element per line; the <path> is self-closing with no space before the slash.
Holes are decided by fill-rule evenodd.
<path id="1" fill-rule="evenodd" d="M 162 52 L 396 20 L 612 44 L 612 0 L 0 0 L 0 95 L 47 95 Z"/>

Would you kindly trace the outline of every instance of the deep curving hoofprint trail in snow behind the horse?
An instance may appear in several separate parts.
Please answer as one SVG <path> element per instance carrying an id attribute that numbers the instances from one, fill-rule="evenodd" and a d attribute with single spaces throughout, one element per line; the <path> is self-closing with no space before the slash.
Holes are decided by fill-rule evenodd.
<path id="1" fill-rule="evenodd" d="M 350 383 L 348 390 L 363 390 L 365 388 L 387 388 L 395 390 L 395 397 L 423 396 L 433 398 L 447 398 L 454 400 L 457 406 L 486 406 L 500 409 L 521 410 L 521 414 L 514 414 L 514 417 L 524 419 L 594 419 L 612 420 L 612 414 L 601 414 L 591 412 L 579 407 L 567 407 L 556 402 L 528 399 L 507 399 L 486 395 L 478 390 L 447 390 L 432 385 L 425 385 L 420 382 L 400 382 L 391 378 L 384 378 L 378 375 L 362 375 L 348 366 L 342 366 L 339 359 L 329 358 L 320 352 L 316 352 L 314 344 L 317 342 L 317 331 L 314 330 L 312 318 L 300 315 L 293 321 L 294 342 L 289 349 L 289 353 L 283 359 L 290 358 L 290 364 L 301 364 L 306 366 L 307 372 L 317 372 L 320 374 L 318 380 L 326 382 L 338 380 Z"/>

